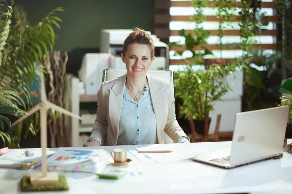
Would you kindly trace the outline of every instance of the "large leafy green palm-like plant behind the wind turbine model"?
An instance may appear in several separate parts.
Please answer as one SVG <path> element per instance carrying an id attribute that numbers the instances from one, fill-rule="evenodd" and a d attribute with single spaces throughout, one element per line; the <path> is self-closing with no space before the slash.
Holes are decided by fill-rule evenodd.
<path id="1" fill-rule="evenodd" d="M 54 14 L 64 10 L 54 9 L 34 26 L 28 25 L 26 15 L 16 14 L 16 24 L 11 25 L 13 0 L 11 5 L 6 1 L 3 3 L 1 6 L 7 12 L 0 15 L 0 143 L 19 147 L 23 127 L 26 135 L 37 133 L 38 113 L 34 118 L 27 118 L 15 127 L 11 127 L 11 122 L 33 107 L 29 84 L 44 68 L 42 60 L 48 47 L 53 52 L 56 35 L 52 25 L 60 28 L 58 22 L 62 21 Z"/>

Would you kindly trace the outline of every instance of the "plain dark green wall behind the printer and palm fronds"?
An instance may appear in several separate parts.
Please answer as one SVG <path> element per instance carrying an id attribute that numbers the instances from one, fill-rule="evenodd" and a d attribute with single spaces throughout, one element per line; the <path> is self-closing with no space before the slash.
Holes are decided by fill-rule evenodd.
<path id="1" fill-rule="evenodd" d="M 86 52 L 98 52 L 101 29 L 133 29 L 135 26 L 154 29 L 154 0 L 15 0 L 24 6 L 30 24 L 36 24 L 48 12 L 57 12 L 61 29 L 55 50 L 68 51 L 67 70 L 76 74 Z M 79 67 L 78 67 L 79 66 Z"/>

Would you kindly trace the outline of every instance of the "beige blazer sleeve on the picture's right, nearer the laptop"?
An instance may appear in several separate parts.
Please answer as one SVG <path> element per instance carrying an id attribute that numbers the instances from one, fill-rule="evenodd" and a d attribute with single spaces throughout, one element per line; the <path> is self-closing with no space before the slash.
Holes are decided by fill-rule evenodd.
<path id="1" fill-rule="evenodd" d="M 183 129 L 178 124 L 175 116 L 175 106 L 174 106 L 174 92 L 171 89 L 171 83 L 168 82 L 167 86 L 167 95 L 168 95 L 168 114 L 167 114 L 167 122 L 164 128 L 166 134 L 177 143 L 180 137 L 186 137 L 189 141 L 190 138 L 185 134 Z"/>

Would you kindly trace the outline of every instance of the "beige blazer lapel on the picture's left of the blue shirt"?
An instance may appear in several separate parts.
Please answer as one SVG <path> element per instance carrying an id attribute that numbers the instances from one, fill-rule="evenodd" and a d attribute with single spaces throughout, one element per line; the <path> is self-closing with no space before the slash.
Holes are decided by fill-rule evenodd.
<path id="1" fill-rule="evenodd" d="M 118 134 L 119 134 L 119 122 L 121 116 L 121 107 L 123 101 L 124 87 L 126 83 L 127 74 L 121 76 L 114 83 L 112 88 L 109 90 L 109 119 L 112 125 L 112 137 L 117 144 Z"/>

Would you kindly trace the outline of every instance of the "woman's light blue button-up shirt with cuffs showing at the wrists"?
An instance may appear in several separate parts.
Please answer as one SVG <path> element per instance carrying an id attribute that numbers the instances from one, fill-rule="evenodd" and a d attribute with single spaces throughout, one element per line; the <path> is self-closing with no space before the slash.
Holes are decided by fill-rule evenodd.
<path id="1" fill-rule="evenodd" d="M 121 107 L 119 122 L 118 145 L 145 145 L 157 144 L 156 118 L 153 110 L 148 83 L 145 86 L 138 102 L 129 95 L 126 86 Z M 100 138 L 91 138 L 98 140 Z M 177 143 L 189 142 L 186 137 L 180 137 Z"/>

